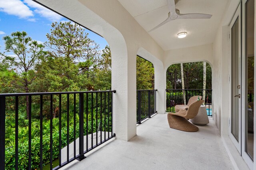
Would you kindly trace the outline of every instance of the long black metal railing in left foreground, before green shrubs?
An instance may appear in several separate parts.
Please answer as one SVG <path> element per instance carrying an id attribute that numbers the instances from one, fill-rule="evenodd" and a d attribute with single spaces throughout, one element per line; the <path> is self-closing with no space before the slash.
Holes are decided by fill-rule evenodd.
<path id="1" fill-rule="evenodd" d="M 73 160 L 84 159 L 85 153 L 115 137 L 112 119 L 115 92 L 0 94 L 0 169 L 42 170 L 47 166 L 56 170 Z M 28 115 L 25 120 L 20 118 L 22 111 Z M 7 125 L 12 117 L 14 125 Z M 19 133 L 21 121 L 26 122 L 28 129 L 24 139 Z M 35 122 L 40 124 L 37 135 Z M 8 143 L 10 147 L 6 147 L 8 126 L 15 129 L 14 143 Z"/>

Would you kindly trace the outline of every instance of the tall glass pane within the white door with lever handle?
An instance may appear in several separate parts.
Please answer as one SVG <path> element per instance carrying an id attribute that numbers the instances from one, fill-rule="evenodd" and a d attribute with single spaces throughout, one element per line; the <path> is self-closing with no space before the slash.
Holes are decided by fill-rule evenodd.
<path id="1" fill-rule="evenodd" d="M 239 141 L 239 94 L 237 86 L 239 84 L 239 21 L 238 18 L 232 27 L 232 122 L 231 132 Z"/>

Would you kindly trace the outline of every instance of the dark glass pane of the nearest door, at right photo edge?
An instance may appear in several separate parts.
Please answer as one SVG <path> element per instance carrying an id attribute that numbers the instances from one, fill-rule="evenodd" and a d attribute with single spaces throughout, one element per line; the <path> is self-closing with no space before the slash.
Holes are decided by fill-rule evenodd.
<path id="1" fill-rule="evenodd" d="M 246 152 L 253 160 L 254 113 L 254 0 L 246 2 Z"/>

